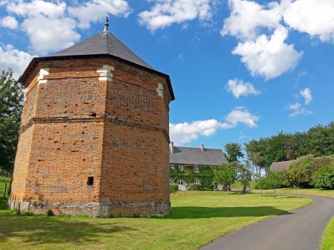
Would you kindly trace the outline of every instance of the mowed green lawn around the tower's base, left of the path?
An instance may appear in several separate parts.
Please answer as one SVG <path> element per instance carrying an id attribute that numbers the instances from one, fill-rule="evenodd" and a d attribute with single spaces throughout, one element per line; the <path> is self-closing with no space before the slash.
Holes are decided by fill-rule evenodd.
<path id="1" fill-rule="evenodd" d="M 18 216 L 0 203 L 0 249 L 196 249 L 221 235 L 312 203 L 301 197 L 175 192 L 164 218 Z"/>

